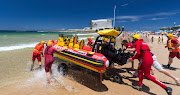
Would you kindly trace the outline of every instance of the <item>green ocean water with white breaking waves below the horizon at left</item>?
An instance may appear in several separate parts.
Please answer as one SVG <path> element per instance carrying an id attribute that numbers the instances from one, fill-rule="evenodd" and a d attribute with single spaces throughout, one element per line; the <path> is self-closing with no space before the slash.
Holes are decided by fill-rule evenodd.
<path id="1" fill-rule="evenodd" d="M 58 34 L 78 35 L 79 39 L 94 38 L 97 33 L 44 32 L 44 31 L 0 31 L 0 51 L 34 47 L 40 41 L 57 40 Z"/>

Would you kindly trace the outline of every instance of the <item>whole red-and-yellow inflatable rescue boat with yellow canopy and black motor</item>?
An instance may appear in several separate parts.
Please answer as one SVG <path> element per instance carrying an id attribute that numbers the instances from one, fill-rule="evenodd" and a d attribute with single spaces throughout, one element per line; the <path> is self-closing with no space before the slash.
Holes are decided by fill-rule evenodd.
<path id="1" fill-rule="evenodd" d="M 110 67 L 112 66 L 111 63 L 114 62 L 120 63 L 122 60 L 121 59 L 122 56 L 119 56 L 120 61 L 116 60 L 115 58 L 113 59 L 113 57 L 118 57 L 116 56 L 117 54 L 114 54 L 113 56 L 111 54 L 109 55 L 110 51 L 116 50 L 115 49 L 116 37 L 120 35 L 120 32 L 111 29 L 111 30 L 99 31 L 98 34 L 99 36 L 96 38 L 93 47 L 84 46 L 84 40 L 78 42 L 77 40 L 78 36 L 74 36 L 72 39 L 72 36 L 68 36 L 68 35 L 65 36 L 60 34 L 58 42 L 56 45 L 54 45 L 54 47 L 55 48 L 65 47 L 67 49 L 61 52 L 55 52 L 55 55 L 62 60 L 71 62 L 85 69 L 100 73 L 100 80 L 102 81 L 102 74 L 110 69 Z M 112 47 L 107 49 L 109 51 L 104 51 L 105 48 L 103 41 L 105 38 L 109 39 L 108 45 Z M 119 53 L 119 55 L 121 54 L 122 53 Z M 109 62 L 109 60 L 111 62 Z M 127 60 L 127 58 L 125 60 Z"/>

